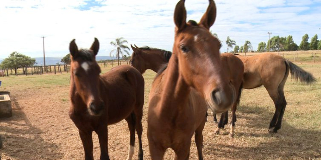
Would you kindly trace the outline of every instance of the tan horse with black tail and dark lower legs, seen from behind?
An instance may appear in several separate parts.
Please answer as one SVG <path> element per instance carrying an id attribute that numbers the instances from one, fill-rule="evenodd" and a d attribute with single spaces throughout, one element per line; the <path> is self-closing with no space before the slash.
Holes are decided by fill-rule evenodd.
<path id="1" fill-rule="evenodd" d="M 291 78 L 311 84 L 316 79 L 302 68 L 274 53 L 264 53 L 255 56 L 237 55 L 244 63 L 243 88 L 253 89 L 261 85 L 265 87 L 275 105 L 274 116 L 270 122 L 269 132 L 276 133 L 281 129 L 286 100 L 284 85 L 291 73 Z M 214 114 L 214 121 L 216 119 Z M 226 122 L 224 123 L 226 124 Z M 224 126 L 223 124 L 223 126 Z"/>

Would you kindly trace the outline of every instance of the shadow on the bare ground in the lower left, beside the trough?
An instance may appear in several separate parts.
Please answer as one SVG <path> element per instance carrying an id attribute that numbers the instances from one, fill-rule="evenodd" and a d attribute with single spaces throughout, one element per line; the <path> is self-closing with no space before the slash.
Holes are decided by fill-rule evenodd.
<path id="1" fill-rule="evenodd" d="M 45 141 L 39 128 L 34 127 L 14 101 L 13 117 L 0 119 L 0 133 L 3 140 L 2 158 L 8 156 L 16 160 L 24 159 L 62 159 L 59 146 Z M 10 159 L 8 158 L 8 159 Z"/>

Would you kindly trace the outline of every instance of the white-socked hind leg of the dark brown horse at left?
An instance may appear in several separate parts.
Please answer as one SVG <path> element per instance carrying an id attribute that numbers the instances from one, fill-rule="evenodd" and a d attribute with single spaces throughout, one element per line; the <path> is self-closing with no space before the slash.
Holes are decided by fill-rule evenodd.
<path id="1" fill-rule="evenodd" d="M 135 114 L 132 112 L 126 119 L 128 124 L 128 129 L 130 132 L 129 148 L 128 148 L 128 157 L 126 160 L 132 160 L 134 151 L 135 151 Z"/>

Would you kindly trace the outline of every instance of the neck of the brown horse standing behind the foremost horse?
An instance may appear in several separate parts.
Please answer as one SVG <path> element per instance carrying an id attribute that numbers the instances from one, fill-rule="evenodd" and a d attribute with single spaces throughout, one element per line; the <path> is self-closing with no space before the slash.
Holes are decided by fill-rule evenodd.
<path id="1" fill-rule="evenodd" d="M 154 72 L 158 72 L 160 68 L 166 63 L 163 51 L 149 51 L 144 52 L 143 54 L 146 69 L 152 69 Z"/>

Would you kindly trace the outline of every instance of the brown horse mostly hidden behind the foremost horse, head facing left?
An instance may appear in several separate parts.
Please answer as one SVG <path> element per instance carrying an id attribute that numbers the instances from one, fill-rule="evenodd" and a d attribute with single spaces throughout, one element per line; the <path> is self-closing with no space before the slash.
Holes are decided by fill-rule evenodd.
<path id="1" fill-rule="evenodd" d="M 142 74 L 146 71 L 146 69 L 152 69 L 154 72 L 160 71 L 162 66 L 166 65 L 169 61 L 169 58 L 171 56 L 171 52 L 157 49 L 157 48 L 150 48 L 150 47 L 133 47 L 133 54 L 131 56 L 131 65 L 138 69 Z M 235 122 L 236 122 L 236 108 L 239 103 L 239 99 L 241 96 L 242 91 L 242 78 L 243 78 L 243 72 L 244 72 L 244 65 L 243 62 L 237 58 L 235 55 L 226 53 L 221 54 L 221 60 L 223 68 L 226 68 L 226 73 L 228 75 L 228 78 L 230 79 L 230 82 L 233 84 L 234 89 L 236 91 L 237 100 L 233 104 L 231 111 L 232 111 L 232 120 L 231 120 L 231 126 L 230 126 L 230 137 L 234 136 L 234 129 L 235 129 Z M 238 68 L 238 69 L 235 69 Z M 218 127 L 215 131 L 215 133 L 219 133 L 220 129 L 224 127 L 225 124 L 227 124 L 228 118 L 227 113 L 224 112 L 224 114 L 221 115 L 220 122 L 218 123 Z M 207 114 L 206 114 L 207 117 Z M 216 116 L 214 116 L 216 118 Z M 217 120 L 216 120 L 217 121 Z"/>

